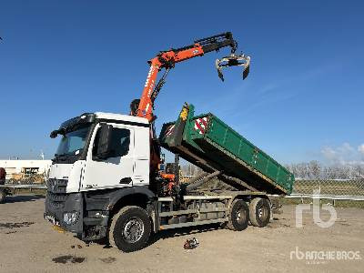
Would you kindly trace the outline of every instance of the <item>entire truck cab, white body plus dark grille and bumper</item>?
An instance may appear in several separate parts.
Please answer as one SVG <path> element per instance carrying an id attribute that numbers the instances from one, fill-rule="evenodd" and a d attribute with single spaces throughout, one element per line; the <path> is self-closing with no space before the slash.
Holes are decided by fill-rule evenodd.
<path id="1" fill-rule="evenodd" d="M 86 113 L 64 122 L 51 133 L 56 136 L 62 138 L 50 167 L 45 200 L 45 217 L 54 224 L 82 238 L 102 238 L 108 211 L 118 198 L 136 192 L 145 199 L 154 196 L 148 189 L 146 118 Z"/>

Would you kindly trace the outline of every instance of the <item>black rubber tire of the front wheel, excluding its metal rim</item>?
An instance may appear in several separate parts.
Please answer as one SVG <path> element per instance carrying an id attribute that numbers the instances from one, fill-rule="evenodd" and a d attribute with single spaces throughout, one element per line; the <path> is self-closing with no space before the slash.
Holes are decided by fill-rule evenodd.
<path id="1" fill-rule="evenodd" d="M 135 243 L 127 242 L 122 234 L 123 227 L 126 221 L 131 217 L 139 217 L 144 224 L 144 233 L 142 237 Z M 111 225 L 108 232 L 109 243 L 113 248 L 118 248 L 123 252 L 133 252 L 144 248 L 150 237 L 151 222 L 147 211 L 141 207 L 127 206 L 120 209 L 111 220 Z"/>

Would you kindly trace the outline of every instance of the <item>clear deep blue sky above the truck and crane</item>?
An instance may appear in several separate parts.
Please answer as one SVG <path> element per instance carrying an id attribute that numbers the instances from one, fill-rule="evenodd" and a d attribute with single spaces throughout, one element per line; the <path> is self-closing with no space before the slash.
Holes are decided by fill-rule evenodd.
<path id="1" fill-rule="evenodd" d="M 1 1 L 0 158 L 53 157 L 49 133 L 84 112 L 128 113 L 158 51 L 231 31 L 250 74 L 177 64 L 157 129 L 184 102 L 283 164 L 364 163 L 362 1 Z"/>

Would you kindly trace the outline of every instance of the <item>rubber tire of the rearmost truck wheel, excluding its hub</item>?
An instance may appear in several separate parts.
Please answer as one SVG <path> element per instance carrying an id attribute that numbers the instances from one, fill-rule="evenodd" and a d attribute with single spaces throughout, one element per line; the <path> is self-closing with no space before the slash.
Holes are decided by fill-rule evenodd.
<path id="1" fill-rule="evenodd" d="M 265 209 L 265 214 L 259 217 L 259 209 Z M 270 202 L 266 198 L 256 197 L 249 204 L 249 218 L 251 225 L 255 227 L 266 227 L 270 220 Z"/>

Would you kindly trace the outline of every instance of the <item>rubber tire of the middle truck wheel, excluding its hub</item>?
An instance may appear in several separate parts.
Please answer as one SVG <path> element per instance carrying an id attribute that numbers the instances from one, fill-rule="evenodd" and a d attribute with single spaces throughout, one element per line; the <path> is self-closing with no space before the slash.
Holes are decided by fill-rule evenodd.
<path id="1" fill-rule="evenodd" d="M 240 215 L 241 212 L 244 212 L 241 222 L 238 222 L 237 220 L 237 214 L 239 210 L 240 210 Z M 228 215 L 227 228 L 235 231 L 242 231 L 248 227 L 248 222 L 249 222 L 249 207 L 247 203 L 241 199 L 234 200 L 230 208 L 230 213 Z"/>

